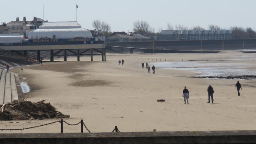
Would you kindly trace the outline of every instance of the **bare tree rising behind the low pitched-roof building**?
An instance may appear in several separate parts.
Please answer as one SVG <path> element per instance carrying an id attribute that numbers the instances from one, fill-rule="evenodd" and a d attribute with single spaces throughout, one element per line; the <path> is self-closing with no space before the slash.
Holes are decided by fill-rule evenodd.
<path id="1" fill-rule="evenodd" d="M 133 30 L 134 30 L 134 33 L 139 33 L 141 35 L 151 35 L 154 31 L 154 29 L 149 26 L 147 21 L 134 22 Z"/>

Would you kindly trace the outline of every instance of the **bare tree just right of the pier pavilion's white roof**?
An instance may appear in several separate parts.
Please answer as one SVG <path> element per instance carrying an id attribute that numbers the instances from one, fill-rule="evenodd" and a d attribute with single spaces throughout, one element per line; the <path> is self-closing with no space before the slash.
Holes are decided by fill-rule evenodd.
<path id="1" fill-rule="evenodd" d="M 101 22 L 99 19 L 94 20 L 92 22 L 93 28 L 98 30 L 98 32 L 102 32 L 104 36 L 108 36 L 111 30 L 111 27 L 106 22 Z"/>

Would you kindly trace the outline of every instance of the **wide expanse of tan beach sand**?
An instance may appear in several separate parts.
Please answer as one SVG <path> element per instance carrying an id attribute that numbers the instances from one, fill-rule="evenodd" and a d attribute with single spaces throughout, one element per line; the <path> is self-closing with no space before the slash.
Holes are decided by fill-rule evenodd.
<path id="1" fill-rule="evenodd" d="M 31 88 L 22 95 L 30 101 L 47 100 L 58 111 L 81 119 L 91 132 L 111 132 L 115 126 L 121 132 L 255 130 L 256 79 L 239 80 L 241 96 L 237 96 L 236 79 L 189 78 L 192 71 L 156 68 L 150 74 L 141 68 L 142 62 L 175 62 L 183 60 L 232 60 L 255 64 L 256 54 L 223 51 L 218 54 L 107 54 L 68 58 L 68 62 L 45 62 L 44 66 L 29 65 L 13 68 L 21 82 Z M 124 59 L 124 65 L 118 60 Z M 63 59 L 59 59 L 63 61 Z M 148 61 L 147 61 L 148 60 Z M 153 60 L 153 61 L 152 61 Z M 157 60 L 157 61 L 156 61 Z M 165 61 L 166 60 L 166 61 Z M 212 61 L 205 61 L 212 62 Z M 227 62 L 227 61 L 218 61 Z M 231 61 L 230 61 L 231 62 Z M 248 67 L 249 70 L 256 66 Z M 214 88 L 214 104 L 208 104 L 207 87 Z M 189 104 L 184 104 L 182 90 L 189 90 Z M 165 102 L 157 102 L 164 99 Z M 41 125 L 58 119 L 1 121 L 2 128 Z M 86 130 L 84 130 L 85 132 Z M 25 130 L 22 133 L 60 132 L 60 124 Z M 64 125 L 64 132 L 80 132 L 80 126 Z M 1 133 L 6 133 L 2 131 Z M 21 133 L 11 131 L 7 133 Z"/>

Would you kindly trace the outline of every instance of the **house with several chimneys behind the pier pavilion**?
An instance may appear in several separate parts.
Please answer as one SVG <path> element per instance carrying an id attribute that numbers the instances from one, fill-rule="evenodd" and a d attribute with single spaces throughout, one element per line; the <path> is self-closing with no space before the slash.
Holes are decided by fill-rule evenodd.
<path id="1" fill-rule="evenodd" d="M 9 33 L 17 33 L 19 35 L 24 35 L 28 37 L 29 32 L 33 29 L 39 28 L 44 22 L 41 18 L 33 18 L 33 21 L 26 21 L 26 17 L 23 17 L 23 21 L 19 21 L 19 18 L 16 18 L 16 21 L 11 21 L 6 24 L 9 28 Z"/>

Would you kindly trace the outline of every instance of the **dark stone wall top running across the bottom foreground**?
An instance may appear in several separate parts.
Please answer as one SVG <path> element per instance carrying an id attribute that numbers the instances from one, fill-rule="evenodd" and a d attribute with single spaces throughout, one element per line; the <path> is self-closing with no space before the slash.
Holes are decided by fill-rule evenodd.
<path id="1" fill-rule="evenodd" d="M 1 144 L 253 144 L 256 131 L 0 134 Z"/>

